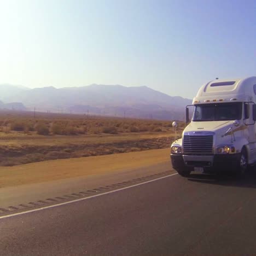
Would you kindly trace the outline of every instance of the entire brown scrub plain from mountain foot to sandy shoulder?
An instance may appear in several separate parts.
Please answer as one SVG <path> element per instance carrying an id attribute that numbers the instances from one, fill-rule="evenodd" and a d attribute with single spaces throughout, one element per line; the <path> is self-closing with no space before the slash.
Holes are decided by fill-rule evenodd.
<path id="1" fill-rule="evenodd" d="M 0 113 L 1 166 L 167 148 L 172 141 L 171 121 Z"/>

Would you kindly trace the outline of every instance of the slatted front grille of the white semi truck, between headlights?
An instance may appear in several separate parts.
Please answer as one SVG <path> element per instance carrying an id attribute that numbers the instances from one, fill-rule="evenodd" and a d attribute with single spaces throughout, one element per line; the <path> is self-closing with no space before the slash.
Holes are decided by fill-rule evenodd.
<path id="1" fill-rule="evenodd" d="M 213 136 L 184 135 L 183 153 L 184 154 L 211 154 L 213 146 Z"/>

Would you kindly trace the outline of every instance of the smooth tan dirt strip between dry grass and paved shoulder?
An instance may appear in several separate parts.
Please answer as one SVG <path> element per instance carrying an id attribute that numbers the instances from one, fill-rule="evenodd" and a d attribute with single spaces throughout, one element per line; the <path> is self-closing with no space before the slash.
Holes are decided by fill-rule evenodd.
<path id="1" fill-rule="evenodd" d="M 170 149 L 60 159 L 12 167 L 0 167 L 0 188 L 57 181 L 94 174 L 117 172 L 121 169 L 147 167 L 169 161 Z"/>

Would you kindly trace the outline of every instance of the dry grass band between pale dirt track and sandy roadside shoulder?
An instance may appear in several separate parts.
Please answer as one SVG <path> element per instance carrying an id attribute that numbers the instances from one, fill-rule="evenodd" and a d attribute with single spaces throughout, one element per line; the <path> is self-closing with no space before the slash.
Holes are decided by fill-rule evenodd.
<path id="1" fill-rule="evenodd" d="M 54 142 L 51 141 L 51 144 L 45 144 L 45 141 L 42 140 L 37 140 L 37 143 L 34 143 L 33 139 L 30 144 L 2 144 L 0 145 L 0 165 L 13 166 L 52 159 L 161 149 L 170 147 L 173 141 L 173 137 L 166 136 L 166 134 L 159 136 L 155 136 L 154 133 L 144 136 L 138 136 L 138 134 L 137 136 L 133 136 L 133 134 L 115 136 L 117 135 L 94 135 L 88 138 L 79 136 L 80 141 L 78 138 L 73 139 L 70 136 L 63 141 L 61 139 L 56 139 Z"/>

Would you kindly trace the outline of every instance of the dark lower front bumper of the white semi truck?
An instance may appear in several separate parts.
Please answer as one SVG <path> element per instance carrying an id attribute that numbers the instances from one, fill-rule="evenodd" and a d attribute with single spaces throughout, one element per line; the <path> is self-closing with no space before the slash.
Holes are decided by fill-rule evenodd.
<path id="1" fill-rule="evenodd" d="M 241 154 L 223 155 L 179 155 L 171 154 L 172 167 L 175 170 L 187 169 L 194 171 L 194 167 L 203 167 L 207 172 L 232 171 L 240 164 Z"/>

